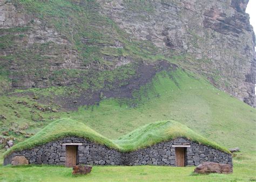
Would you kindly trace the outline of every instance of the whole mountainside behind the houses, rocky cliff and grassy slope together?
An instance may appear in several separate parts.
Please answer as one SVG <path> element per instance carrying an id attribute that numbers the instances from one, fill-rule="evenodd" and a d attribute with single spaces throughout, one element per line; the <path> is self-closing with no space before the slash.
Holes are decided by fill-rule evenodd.
<path id="1" fill-rule="evenodd" d="M 1 155 L 70 118 L 113 141 L 174 120 L 254 157 L 247 2 L 0 0 Z"/>

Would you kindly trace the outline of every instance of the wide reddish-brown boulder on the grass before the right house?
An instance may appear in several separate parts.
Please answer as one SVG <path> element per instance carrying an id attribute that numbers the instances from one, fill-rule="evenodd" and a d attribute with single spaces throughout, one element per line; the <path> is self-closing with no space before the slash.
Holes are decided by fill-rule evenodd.
<path id="1" fill-rule="evenodd" d="M 233 167 L 229 164 L 219 164 L 219 163 L 211 163 L 205 162 L 203 164 L 199 164 L 196 169 L 194 169 L 194 173 L 200 174 L 208 174 L 208 173 L 223 173 L 228 174 L 233 172 Z"/>

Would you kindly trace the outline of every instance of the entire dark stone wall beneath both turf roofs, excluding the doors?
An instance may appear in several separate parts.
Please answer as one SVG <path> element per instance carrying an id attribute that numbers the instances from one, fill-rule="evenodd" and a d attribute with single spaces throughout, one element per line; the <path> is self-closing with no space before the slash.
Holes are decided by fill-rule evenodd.
<path id="1" fill-rule="evenodd" d="M 77 163 L 91 165 L 176 165 L 175 148 L 172 145 L 191 145 L 185 149 L 185 164 L 199 165 L 202 162 L 216 162 L 232 165 L 232 157 L 228 153 L 194 143 L 184 138 L 170 142 L 161 142 L 146 149 L 122 153 L 107 146 L 89 142 L 84 138 L 66 137 L 31 150 L 14 152 L 4 159 L 4 165 L 11 163 L 15 156 L 25 156 L 30 164 L 64 165 L 66 146 L 63 143 L 83 143 L 78 145 Z"/>

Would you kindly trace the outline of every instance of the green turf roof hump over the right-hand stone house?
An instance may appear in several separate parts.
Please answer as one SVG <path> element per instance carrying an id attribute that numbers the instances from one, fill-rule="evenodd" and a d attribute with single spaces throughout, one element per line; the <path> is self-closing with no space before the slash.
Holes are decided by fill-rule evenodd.
<path id="1" fill-rule="evenodd" d="M 230 153 L 230 151 L 223 146 L 208 141 L 208 139 L 192 131 L 190 128 L 173 120 L 159 121 L 144 125 L 143 127 L 131 131 L 129 134 L 119 137 L 113 142 L 123 151 L 134 151 L 180 137 Z"/>

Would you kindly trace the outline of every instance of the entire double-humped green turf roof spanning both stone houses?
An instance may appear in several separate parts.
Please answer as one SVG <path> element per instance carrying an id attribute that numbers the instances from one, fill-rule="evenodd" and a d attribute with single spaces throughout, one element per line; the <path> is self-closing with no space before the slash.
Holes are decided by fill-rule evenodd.
<path id="1" fill-rule="evenodd" d="M 230 153 L 226 148 L 218 145 L 217 143 L 208 141 L 206 138 L 196 134 L 196 132 L 187 128 L 185 125 L 175 121 L 160 121 L 147 124 L 133 130 L 123 137 L 116 140 L 111 140 L 98 134 L 98 132 L 92 130 L 81 122 L 77 122 L 69 118 L 62 118 L 50 123 L 35 136 L 14 145 L 11 149 L 4 153 L 4 156 L 9 155 L 14 151 L 31 149 L 33 146 L 43 145 L 66 136 L 83 137 L 89 141 L 103 144 L 109 148 L 117 149 L 123 152 L 135 151 L 137 149 L 146 148 L 160 142 L 170 141 L 171 139 L 178 137 L 184 137 L 190 139 L 191 141 Z"/>

